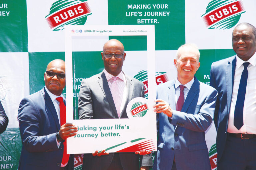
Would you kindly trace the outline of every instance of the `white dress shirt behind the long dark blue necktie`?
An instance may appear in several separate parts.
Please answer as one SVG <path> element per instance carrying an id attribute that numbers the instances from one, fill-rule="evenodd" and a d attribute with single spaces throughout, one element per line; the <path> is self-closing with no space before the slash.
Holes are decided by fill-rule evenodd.
<path id="1" fill-rule="evenodd" d="M 246 85 L 243 119 L 244 125 L 239 130 L 234 126 L 234 111 L 244 62 L 250 62 L 247 67 L 248 80 Z M 231 71 L 231 70 L 230 70 Z M 236 56 L 234 87 L 228 119 L 228 132 L 256 134 L 256 53 L 248 60 L 243 61 Z"/>

